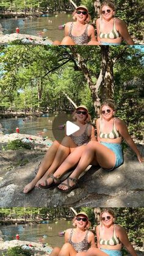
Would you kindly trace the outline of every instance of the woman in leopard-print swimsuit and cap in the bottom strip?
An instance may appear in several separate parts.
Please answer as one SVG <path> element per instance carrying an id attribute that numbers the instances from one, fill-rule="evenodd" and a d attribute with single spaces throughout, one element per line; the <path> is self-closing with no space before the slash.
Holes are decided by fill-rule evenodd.
<path id="1" fill-rule="evenodd" d="M 86 213 L 77 213 L 73 225 L 75 229 L 65 232 L 65 244 L 62 248 L 54 248 L 49 256 L 75 256 L 78 252 L 87 252 L 88 248 L 96 247 L 93 233 L 87 230 L 90 222 Z"/>

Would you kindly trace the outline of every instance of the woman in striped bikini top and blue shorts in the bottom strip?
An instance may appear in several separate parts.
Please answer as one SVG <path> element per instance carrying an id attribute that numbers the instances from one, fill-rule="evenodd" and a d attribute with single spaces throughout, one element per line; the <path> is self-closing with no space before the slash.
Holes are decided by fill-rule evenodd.
<path id="1" fill-rule="evenodd" d="M 104 208 L 101 212 L 101 223 L 96 227 L 96 238 L 98 248 L 90 248 L 79 256 L 121 256 L 123 245 L 132 256 L 137 256 L 126 230 L 115 224 L 115 213 L 111 208 Z"/>

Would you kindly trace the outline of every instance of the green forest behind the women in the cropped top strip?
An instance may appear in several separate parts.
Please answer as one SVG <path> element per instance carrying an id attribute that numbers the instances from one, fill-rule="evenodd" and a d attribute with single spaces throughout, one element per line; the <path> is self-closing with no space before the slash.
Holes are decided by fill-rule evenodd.
<path id="1" fill-rule="evenodd" d="M 84 4 L 88 7 L 90 15 L 95 20 L 99 16 L 99 7 L 103 0 L 74 0 L 78 6 Z M 143 40 L 143 0 L 115 0 L 116 16 L 124 20 L 132 37 Z M 10 16 L 10 13 L 24 12 L 25 15 L 35 12 L 63 12 L 74 10 L 69 0 L 1 0 L 0 17 Z"/>

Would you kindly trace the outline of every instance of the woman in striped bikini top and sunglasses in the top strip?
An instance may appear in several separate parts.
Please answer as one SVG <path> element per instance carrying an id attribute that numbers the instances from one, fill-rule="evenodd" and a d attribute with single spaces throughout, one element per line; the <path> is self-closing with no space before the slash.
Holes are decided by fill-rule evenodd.
<path id="1" fill-rule="evenodd" d="M 102 45 L 120 45 L 124 39 L 128 45 L 134 45 L 128 28 L 120 18 L 114 18 L 115 5 L 112 1 L 104 1 L 100 8 L 100 18 L 96 20 L 98 42 Z"/>

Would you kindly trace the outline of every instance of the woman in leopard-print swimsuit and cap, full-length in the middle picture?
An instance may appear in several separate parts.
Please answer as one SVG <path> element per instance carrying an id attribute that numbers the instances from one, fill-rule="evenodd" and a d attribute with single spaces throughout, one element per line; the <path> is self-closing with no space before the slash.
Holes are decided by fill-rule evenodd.
<path id="1" fill-rule="evenodd" d="M 67 156 L 77 148 L 74 165 L 77 164 L 88 141 L 96 140 L 93 126 L 87 123 L 90 121 L 87 107 L 84 105 L 78 106 L 73 112 L 73 119 L 76 120 L 75 124 L 79 126 L 79 131 L 73 133 L 73 136 L 65 136 L 61 143 L 58 141 L 53 142 L 43 161 L 41 161 L 37 175 L 25 186 L 24 193 L 31 191 L 35 186 L 37 188 L 50 188 L 59 185 L 65 180 L 65 178 L 62 180 L 64 172 L 60 173 L 59 177 L 54 173 Z M 70 174 L 71 172 L 67 173 L 68 176 Z"/>

